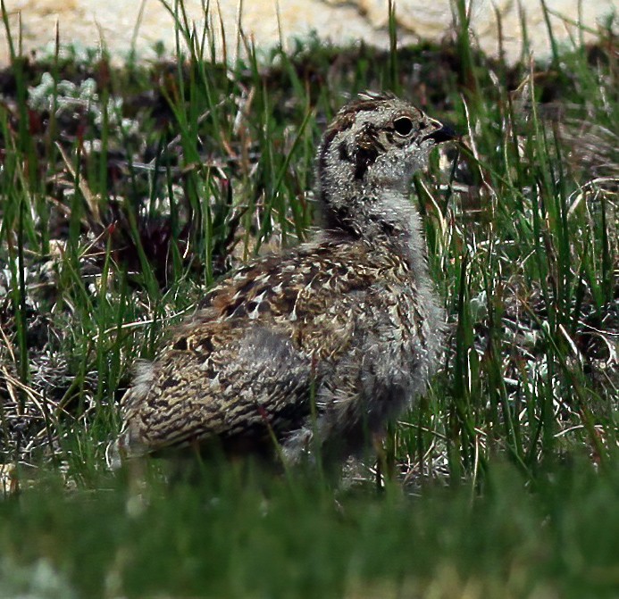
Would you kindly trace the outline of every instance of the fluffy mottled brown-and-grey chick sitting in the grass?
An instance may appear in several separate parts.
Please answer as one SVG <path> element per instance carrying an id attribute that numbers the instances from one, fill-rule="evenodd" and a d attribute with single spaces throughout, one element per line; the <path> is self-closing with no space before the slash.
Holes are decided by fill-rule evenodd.
<path id="1" fill-rule="evenodd" d="M 444 314 L 410 191 L 455 138 L 390 93 L 341 108 L 316 154 L 315 237 L 223 279 L 138 362 L 110 466 L 214 446 L 341 464 L 380 437 L 439 366 Z"/>

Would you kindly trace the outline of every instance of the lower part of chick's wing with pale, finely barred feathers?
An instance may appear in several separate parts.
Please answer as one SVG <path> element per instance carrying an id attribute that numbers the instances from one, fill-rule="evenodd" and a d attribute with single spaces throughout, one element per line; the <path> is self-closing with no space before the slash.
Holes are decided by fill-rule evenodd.
<path id="1" fill-rule="evenodd" d="M 217 323 L 214 323 L 217 324 Z M 127 453 L 209 437 L 262 443 L 309 414 L 315 363 L 289 337 L 260 327 L 239 334 L 213 326 L 205 345 L 172 349 L 138 367 L 123 400 Z M 224 342 L 222 337 L 228 337 Z M 206 337 L 203 335 L 203 342 Z"/>

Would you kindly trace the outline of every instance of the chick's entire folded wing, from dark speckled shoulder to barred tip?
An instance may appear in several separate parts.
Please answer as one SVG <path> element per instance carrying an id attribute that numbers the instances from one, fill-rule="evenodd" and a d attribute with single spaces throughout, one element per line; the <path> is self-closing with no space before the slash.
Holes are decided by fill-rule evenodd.
<path id="1" fill-rule="evenodd" d="M 337 254 L 337 259 L 335 258 Z M 329 244 L 267 258 L 216 287 L 123 399 L 127 453 L 265 437 L 302 426 L 312 390 L 349 353 L 364 293 L 364 257 Z"/>

